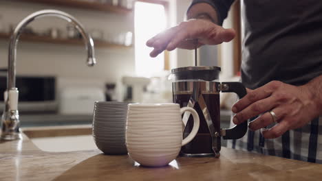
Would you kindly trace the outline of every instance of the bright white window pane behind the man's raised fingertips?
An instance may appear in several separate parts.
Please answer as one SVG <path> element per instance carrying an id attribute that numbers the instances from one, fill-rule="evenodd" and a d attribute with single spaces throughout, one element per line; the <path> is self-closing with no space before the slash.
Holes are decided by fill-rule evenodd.
<path id="1" fill-rule="evenodd" d="M 152 49 L 145 43 L 155 34 L 162 32 L 166 28 L 166 23 L 163 5 L 136 2 L 134 15 L 136 75 L 151 77 L 164 70 L 164 53 L 151 58 L 149 53 Z"/>

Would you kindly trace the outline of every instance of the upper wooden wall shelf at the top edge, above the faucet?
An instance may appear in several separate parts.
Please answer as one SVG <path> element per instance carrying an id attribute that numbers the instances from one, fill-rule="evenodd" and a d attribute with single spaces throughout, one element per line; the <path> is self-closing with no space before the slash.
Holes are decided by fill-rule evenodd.
<path id="1" fill-rule="evenodd" d="M 19 0 L 31 3 L 43 3 L 47 5 L 61 5 L 69 8 L 82 8 L 87 10 L 98 10 L 102 12 L 116 12 L 119 14 L 127 14 L 132 10 L 123 8 L 120 5 L 111 5 L 96 1 L 81 1 L 81 0 Z"/>

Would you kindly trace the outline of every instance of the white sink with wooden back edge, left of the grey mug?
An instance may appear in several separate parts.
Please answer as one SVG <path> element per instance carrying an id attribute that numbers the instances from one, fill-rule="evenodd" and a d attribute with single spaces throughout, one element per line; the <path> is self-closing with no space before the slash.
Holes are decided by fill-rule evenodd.
<path id="1" fill-rule="evenodd" d="M 97 149 L 92 136 L 92 125 L 24 128 L 23 133 L 44 152 Z"/>

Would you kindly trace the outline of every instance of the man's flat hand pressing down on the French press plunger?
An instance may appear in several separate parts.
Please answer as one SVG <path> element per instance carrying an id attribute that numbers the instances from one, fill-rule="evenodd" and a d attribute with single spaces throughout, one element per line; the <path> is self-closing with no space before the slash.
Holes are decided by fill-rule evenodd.
<path id="1" fill-rule="evenodd" d="M 147 41 L 147 46 L 154 48 L 150 56 L 156 57 L 165 49 L 168 51 L 175 48 L 194 49 L 195 39 L 198 39 L 197 47 L 200 47 L 229 42 L 234 37 L 233 29 L 224 29 L 205 19 L 191 19 L 157 34 Z"/>

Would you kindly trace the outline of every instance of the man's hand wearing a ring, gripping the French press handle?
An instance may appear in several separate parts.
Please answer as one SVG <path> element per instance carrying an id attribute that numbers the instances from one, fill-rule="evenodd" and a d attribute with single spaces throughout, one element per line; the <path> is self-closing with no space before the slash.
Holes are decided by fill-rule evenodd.
<path id="1" fill-rule="evenodd" d="M 249 123 L 251 130 L 265 128 L 276 121 L 277 124 L 272 128 L 261 130 L 265 138 L 277 138 L 288 130 L 301 128 L 319 116 L 319 106 L 310 87 L 292 86 L 278 81 L 248 90 L 248 94 L 237 101 L 232 110 L 237 113 L 233 118 L 235 124 L 261 114 Z M 275 121 L 270 110 L 276 114 Z"/>

